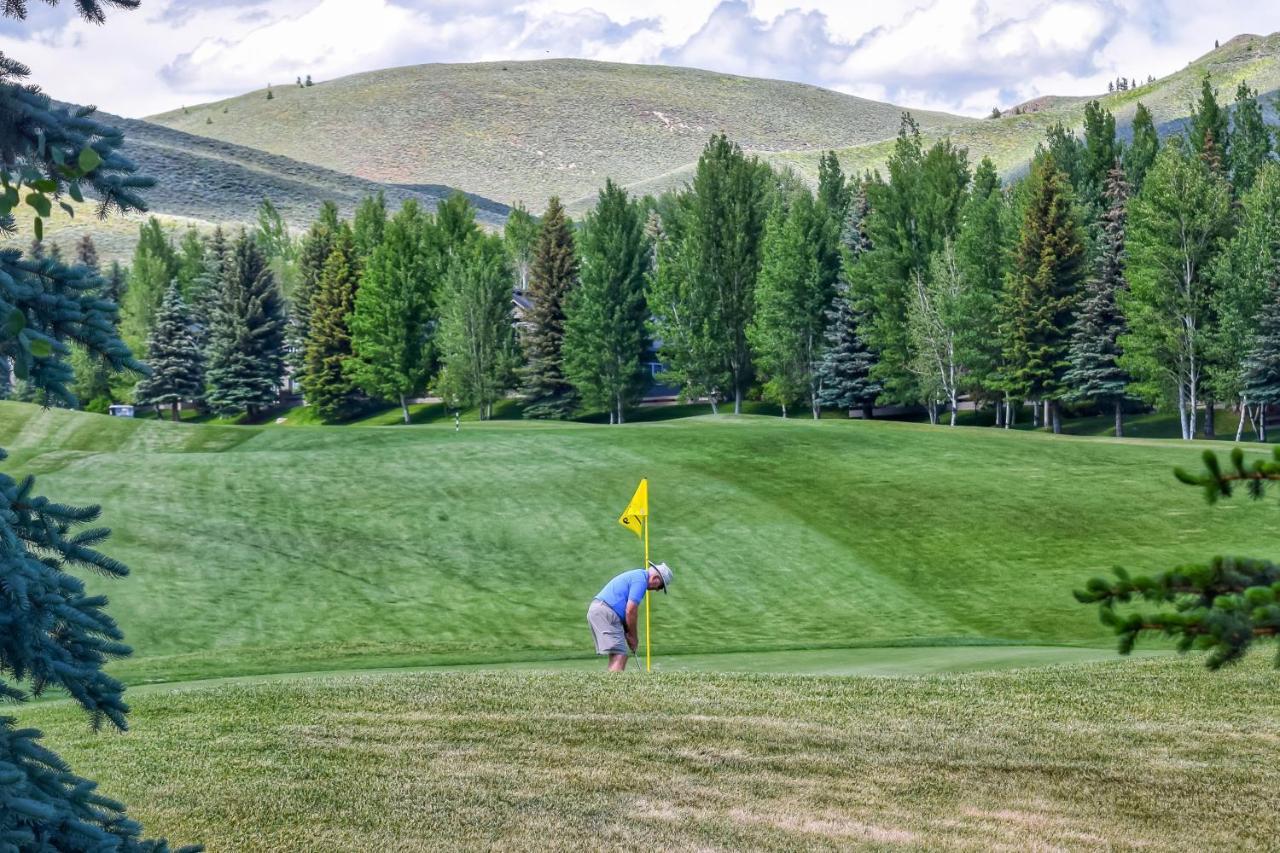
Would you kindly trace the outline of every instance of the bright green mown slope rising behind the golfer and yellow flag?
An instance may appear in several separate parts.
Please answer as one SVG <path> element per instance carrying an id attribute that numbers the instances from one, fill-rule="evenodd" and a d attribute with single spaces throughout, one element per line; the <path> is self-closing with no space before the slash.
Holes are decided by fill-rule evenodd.
<path id="1" fill-rule="evenodd" d="M 246 428 L 0 405 L 6 470 L 97 502 L 134 575 L 133 681 L 589 657 L 584 611 L 653 487 L 677 570 L 654 653 L 987 642 L 1108 647 L 1089 575 L 1268 556 L 1275 507 L 1203 506 L 1181 444 L 695 418 Z"/>

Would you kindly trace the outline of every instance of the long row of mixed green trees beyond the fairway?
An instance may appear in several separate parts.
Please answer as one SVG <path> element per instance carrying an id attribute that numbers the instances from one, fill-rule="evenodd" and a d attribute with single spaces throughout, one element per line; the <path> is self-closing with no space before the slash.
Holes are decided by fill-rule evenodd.
<path id="1" fill-rule="evenodd" d="M 136 398 L 221 414 L 273 405 L 287 364 L 325 420 L 371 401 L 407 420 L 433 392 L 481 416 L 518 393 L 530 418 L 621 423 L 657 348 L 663 382 L 714 411 L 923 406 L 955 424 L 968 400 L 997 426 L 1103 411 L 1120 434 L 1156 405 L 1190 438 L 1229 405 L 1263 437 L 1280 402 L 1263 115 L 1247 85 L 1228 110 L 1206 77 L 1181 132 L 1161 140 L 1139 102 L 1121 140 L 1093 101 L 1083 131 L 1053 126 L 1002 182 L 905 114 L 883 173 L 846 175 L 827 152 L 815 190 L 721 134 L 684 188 L 636 199 L 609 181 L 581 223 L 552 199 L 486 233 L 462 195 L 396 213 L 375 196 L 349 222 L 326 202 L 294 238 L 264 201 L 234 238 L 175 246 L 148 222 L 105 279 L 155 369 Z"/>

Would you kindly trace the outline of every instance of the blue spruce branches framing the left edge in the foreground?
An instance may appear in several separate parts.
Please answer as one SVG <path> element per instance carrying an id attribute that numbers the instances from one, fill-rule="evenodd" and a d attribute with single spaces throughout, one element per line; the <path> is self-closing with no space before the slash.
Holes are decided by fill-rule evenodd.
<path id="1" fill-rule="evenodd" d="M 91 22 L 104 19 L 104 6 L 131 8 L 128 1 L 78 0 Z M 6 3 L 5 18 L 24 18 L 26 4 Z M 136 174 L 122 156 L 123 134 L 104 126 L 88 108 L 52 102 L 35 86 L 20 63 L 0 61 L 0 174 L 8 187 L 27 181 L 22 193 L 0 200 L 10 216 L 19 201 L 35 210 L 36 237 L 52 201 L 67 193 L 83 199 L 92 188 L 104 214 L 146 209 L 138 191 L 151 182 Z M 18 118 L 20 117 L 20 119 Z M 38 175 L 32 178 L 31 175 Z M 10 228 L 13 220 L 8 220 Z M 23 257 L 0 251 L 0 352 L 9 373 L 41 392 L 73 403 L 67 384 L 72 369 L 69 345 L 105 359 L 114 370 L 143 370 L 115 336 L 115 306 L 95 291 L 102 284 L 87 266 L 65 266 L 54 259 Z M 97 551 L 109 532 L 86 528 L 99 507 L 50 501 L 35 489 L 32 476 L 0 475 L 0 695 L 9 703 L 52 688 L 64 692 L 95 729 L 104 722 L 127 727 L 124 685 L 105 665 L 131 653 L 123 633 L 106 612 L 106 598 L 88 594 L 79 573 L 109 580 L 128 569 Z M 0 716 L 0 844 L 13 850 L 122 850 L 160 853 L 164 841 L 142 839 L 142 829 L 124 806 L 74 775 L 40 731 L 19 727 Z"/>

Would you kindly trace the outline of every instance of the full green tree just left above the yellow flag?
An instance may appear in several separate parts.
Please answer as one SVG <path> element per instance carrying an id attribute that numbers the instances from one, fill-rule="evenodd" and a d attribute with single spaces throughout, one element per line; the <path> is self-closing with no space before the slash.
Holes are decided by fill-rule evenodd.
<path id="1" fill-rule="evenodd" d="M 617 424 L 649 380 L 644 223 L 640 205 L 607 179 L 582 225 L 580 282 L 566 302 L 564 377 L 585 406 L 607 409 Z"/>

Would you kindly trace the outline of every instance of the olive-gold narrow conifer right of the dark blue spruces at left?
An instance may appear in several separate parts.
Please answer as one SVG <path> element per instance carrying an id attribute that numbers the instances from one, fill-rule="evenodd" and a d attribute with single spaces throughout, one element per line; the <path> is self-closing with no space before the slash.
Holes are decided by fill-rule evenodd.
<path id="1" fill-rule="evenodd" d="M 349 418 L 360 405 L 358 388 L 344 368 L 352 355 L 348 318 L 356 310 L 358 282 L 355 236 L 342 224 L 311 298 L 307 370 L 302 379 L 307 403 L 325 421 Z"/>

